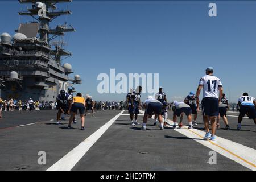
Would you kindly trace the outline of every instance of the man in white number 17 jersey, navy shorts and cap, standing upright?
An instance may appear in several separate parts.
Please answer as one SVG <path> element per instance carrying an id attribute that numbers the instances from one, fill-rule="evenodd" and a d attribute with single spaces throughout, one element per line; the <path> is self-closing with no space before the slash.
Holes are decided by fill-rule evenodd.
<path id="1" fill-rule="evenodd" d="M 206 134 L 204 140 L 216 140 L 216 118 L 219 114 L 218 104 L 221 102 L 223 88 L 219 78 L 213 76 L 213 68 L 208 67 L 205 70 L 206 75 L 203 76 L 199 81 L 199 86 L 196 92 L 196 98 L 199 102 L 199 96 L 201 89 L 204 89 L 202 109 L 203 109 L 203 119 Z M 197 106 L 199 109 L 199 105 Z M 212 125 L 212 135 L 209 130 L 209 121 Z"/>

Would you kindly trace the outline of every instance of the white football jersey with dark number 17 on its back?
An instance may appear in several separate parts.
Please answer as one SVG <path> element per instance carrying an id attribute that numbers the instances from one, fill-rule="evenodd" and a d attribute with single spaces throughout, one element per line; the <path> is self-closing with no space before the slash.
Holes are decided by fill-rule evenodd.
<path id="1" fill-rule="evenodd" d="M 220 79 L 213 75 L 205 75 L 200 79 L 199 85 L 204 86 L 203 98 L 218 98 L 218 88 L 222 87 Z"/>

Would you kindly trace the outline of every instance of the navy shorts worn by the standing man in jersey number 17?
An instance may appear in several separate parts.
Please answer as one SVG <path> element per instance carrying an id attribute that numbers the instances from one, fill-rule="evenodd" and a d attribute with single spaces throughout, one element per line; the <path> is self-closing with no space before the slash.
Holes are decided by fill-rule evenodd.
<path id="1" fill-rule="evenodd" d="M 218 98 L 205 97 L 202 101 L 203 115 L 218 116 Z"/>

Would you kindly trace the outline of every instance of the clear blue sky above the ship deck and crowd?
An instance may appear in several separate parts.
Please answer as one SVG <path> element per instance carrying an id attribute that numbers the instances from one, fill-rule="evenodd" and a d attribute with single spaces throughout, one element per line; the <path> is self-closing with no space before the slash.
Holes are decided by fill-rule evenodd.
<path id="1" fill-rule="evenodd" d="M 210 2 L 217 4 L 217 17 L 208 16 Z M 32 20 L 19 19 L 17 11 L 25 6 L 0 1 L 0 32 L 13 35 L 19 20 Z M 97 93 L 98 74 L 110 68 L 159 73 L 168 100 L 183 100 L 212 66 L 227 96 L 230 88 L 231 101 L 243 92 L 256 96 L 255 1 L 73 1 L 68 7 L 72 15 L 54 22 L 76 28 L 67 39 L 73 56 L 63 63 L 71 63 L 83 79 L 76 90 L 94 100 L 125 97 Z"/>

